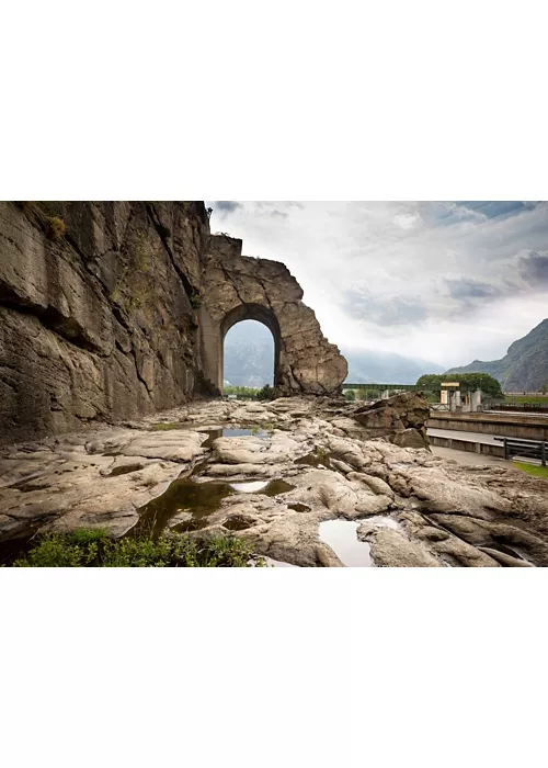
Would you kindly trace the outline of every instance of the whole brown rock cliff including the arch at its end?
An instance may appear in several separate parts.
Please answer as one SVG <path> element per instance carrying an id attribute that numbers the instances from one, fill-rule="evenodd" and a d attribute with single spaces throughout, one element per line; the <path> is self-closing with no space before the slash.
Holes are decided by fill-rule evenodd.
<path id="1" fill-rule="evenodd" d="M 212 237 L 202 202 L 0 203 L 0 443 L 218 394 L 247 316 L 283 394 L 340 389 L 346 361 L 286 268 Z"/>

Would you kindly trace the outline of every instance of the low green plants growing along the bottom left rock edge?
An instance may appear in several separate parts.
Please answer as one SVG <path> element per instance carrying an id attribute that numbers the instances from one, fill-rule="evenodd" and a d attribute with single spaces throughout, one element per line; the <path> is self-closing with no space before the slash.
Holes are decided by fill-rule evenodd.
<path id="1" fill-rule="evenodd" d="M 112 539 L 104 529 L 81 529 L 71 533 L 49 533 L 37 539 L 15 567 L 61 568 L 146 568 L 146 567 L 249 567 L 253 553 L 241 539 L 232 535 L 190 537 L 162 532 Z M 254 558 L 262 566 L 262 558 Z"/>

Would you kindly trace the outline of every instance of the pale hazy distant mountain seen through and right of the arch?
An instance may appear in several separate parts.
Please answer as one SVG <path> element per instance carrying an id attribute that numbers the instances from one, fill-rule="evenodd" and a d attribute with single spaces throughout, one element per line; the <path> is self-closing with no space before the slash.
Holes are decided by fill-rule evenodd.
<path id="1" fill-rule="evenodd" d="M 346 381 L 352 384 L 414 384 L 423 373 L 442 373 L 443 368 L 425 360 L 374 350 L 345 350 Z M 246 320 L 233 326 L 225 340 L 224 379 L 239 386 L 273 383 L 274 341 L 261 323 Z"/>

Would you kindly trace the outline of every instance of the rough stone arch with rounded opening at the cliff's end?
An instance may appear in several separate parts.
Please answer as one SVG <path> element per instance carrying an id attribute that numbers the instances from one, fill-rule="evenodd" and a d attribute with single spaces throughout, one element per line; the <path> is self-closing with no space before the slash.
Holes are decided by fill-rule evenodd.
<path id="1" fill-rule="evenodd" d="M 201 280 L 199 328 L 206 388 L 220 394 L 224 341 L 240 320 L 263 323 L 274 337 L 279 394 L 341 392 L 347 363 L 321 332 L 302 289 L 285 264 L 241 256 L 241 240 L 212 236 Z"/>

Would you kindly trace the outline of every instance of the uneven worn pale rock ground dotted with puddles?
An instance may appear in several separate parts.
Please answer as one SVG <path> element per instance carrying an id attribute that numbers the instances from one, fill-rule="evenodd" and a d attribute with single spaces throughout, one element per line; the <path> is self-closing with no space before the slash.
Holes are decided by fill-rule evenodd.
<path id="1" fill-rule="evenodd" d="M 349 565 L 548 565 L 547 481 L 456 465 L 362 429 L 341 400 L 204 400 L 3 448 L 0 557 L 36 531 L 123 535 L 148 515 L 158 528 L 238 535 L 301 567 L 345 565 L 344 547 L 320 532 L 328 521 L 367 554 Z"/>

